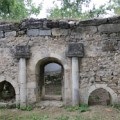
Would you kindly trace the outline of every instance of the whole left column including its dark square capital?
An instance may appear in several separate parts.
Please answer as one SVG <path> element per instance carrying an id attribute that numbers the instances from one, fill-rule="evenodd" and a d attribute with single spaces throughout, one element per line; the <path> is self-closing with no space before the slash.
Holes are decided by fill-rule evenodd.
<path id="1" fill-rule="evenodd" d="M 18 82 L 20 89 L 20 107 L 27 105 L 26 59 L 30 58 L 29 46 L 16 46 L 15 57 L 19 59 Z"/>

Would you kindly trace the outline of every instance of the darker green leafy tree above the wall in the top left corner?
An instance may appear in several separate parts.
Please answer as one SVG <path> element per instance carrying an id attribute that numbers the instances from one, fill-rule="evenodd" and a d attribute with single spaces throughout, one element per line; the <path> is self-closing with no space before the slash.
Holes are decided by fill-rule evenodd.
<path id="1" fill-rule="evenodd" d="M 0 0 L 0 19 L 20 20 L 40 13 L 41 5 L 35 7 L 32 0 Z"/>

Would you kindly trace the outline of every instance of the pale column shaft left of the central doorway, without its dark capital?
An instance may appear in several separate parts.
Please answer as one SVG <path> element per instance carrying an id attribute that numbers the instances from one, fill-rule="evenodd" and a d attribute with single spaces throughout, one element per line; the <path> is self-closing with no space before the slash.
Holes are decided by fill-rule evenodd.
<path id="1" fill-rule="evenodd" d="M 19 59 L 19 85 L 20 85 L 20 106 L 26 106 L 27 85 L 26 85 L 26 59 Z"/>

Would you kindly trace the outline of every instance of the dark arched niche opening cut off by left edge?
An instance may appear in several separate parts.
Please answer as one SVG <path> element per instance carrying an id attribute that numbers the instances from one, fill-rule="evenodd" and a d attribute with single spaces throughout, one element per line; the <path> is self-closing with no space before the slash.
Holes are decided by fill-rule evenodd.
<path id="1" fill-rule="evenodd" d="M 0 102 L 10 101 L 15 101 L 15 90 L 9 82 L 2 81 L 0 82 Z"/>

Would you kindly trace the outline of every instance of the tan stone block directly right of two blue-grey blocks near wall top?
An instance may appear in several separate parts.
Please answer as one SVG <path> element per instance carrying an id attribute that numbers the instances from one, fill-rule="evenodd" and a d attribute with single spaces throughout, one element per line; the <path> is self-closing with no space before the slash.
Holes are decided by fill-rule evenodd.
<path id="1" fill-rule="evenodd" d="M 69 34 L 68 29 L 59 29 L 59 28 L 54 28 L 52 29 L 52 35 L 53 36 L 67 36 Z"/>

